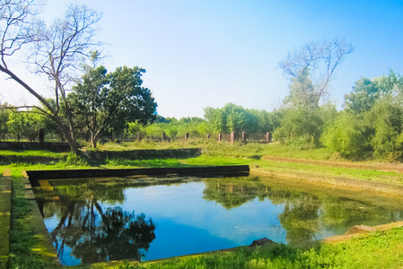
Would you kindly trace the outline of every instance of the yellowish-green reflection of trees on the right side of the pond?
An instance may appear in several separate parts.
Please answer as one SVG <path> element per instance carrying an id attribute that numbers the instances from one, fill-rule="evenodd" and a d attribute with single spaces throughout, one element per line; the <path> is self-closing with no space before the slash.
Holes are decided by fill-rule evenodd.
<path id="1" fill-rule="evenodd" d="M 301 243 L 316 239 L 320 230 L 344 230 L 365 221 L 398 221 L 402 213 L 390 213 L 381 206 L 331 195 L 289 191 L 280 187 L 267 187 L 258 181 L 240 181 L 239 178 L 209 179 L 203 198 L 215 201 L 226 209 L 248 203 L 258 197 L 272 204 L 283 204 L 284 212 L 278 215 L 282 227 L 287 231 L 290 243 Z M 395 215 L 396 214 L 396 215 Z"/>

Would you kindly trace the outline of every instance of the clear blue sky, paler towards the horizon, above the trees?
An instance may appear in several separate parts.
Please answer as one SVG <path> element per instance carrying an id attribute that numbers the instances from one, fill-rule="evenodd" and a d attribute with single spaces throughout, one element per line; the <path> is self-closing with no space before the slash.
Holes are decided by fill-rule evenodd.
<path id="1" fill-rule="evenodd" d="M 43 17 L 60 16 L 69 2 L 48 0 Z M 109 71 L 144 67 L 144 86 L 153 90 L 163 117 L 203 117 L 203 108 L 228 102 L 278 108 L 288 94 L 278 63 L 320 39 L 340 37 L 355 46 L 330 85 L 337 108 L 362 76 L 388 74 L 390 68 L 403 74 L 403 1 L 76 2 L 102 13 L 99 39 L 108 44 L 103 64 Z M 31 102 L 21 87 L 0 79 L 3 101 Z"/>

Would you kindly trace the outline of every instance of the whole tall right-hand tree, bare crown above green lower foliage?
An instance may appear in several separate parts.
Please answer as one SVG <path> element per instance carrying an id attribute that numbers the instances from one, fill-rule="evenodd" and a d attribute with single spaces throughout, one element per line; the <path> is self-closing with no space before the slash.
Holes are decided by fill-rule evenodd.
<path id="1" fill-rule="evenodd" d="M 337 66 L 353 50 L 345 39 L 310 42 L 295 49 L 279 64 L 291 83 L 290 94 L 284 100 L 284 118 L 275 132 L 276 139 L 319 145 L 326 124 L 320 116 L 323 110 L 320 100 L 329 96 L 329 82 Z M 330 107 L 324 110 L 331 111 Z"/>

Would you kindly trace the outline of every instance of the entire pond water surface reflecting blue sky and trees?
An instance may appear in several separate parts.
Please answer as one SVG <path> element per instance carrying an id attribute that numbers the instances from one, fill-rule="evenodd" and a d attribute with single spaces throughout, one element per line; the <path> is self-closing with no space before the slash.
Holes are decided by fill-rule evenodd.
<path id="1" fill-rule="evenodd" d="M 63 265 L 182 256 L 261 238 L 295 244 L 403 220 L 400 200 L 278 178 L 39 183 L 39 209 Z"/>

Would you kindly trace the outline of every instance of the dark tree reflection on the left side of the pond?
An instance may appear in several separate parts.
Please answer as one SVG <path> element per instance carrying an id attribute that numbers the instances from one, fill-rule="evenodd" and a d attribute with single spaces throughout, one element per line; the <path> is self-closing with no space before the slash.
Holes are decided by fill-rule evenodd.
<path id="1" fill-rule="evenodd" d="M 122 192 L 122 188 L 118 189 Z M 67 246 L 83 264 L 125 258 L 140 260 L 155 239 L 155 225 L 151 219 L 145 220 L 145 214 L 129 213 L 119 206 L 102 210 L 97 195 L 103 193 L 103 200 L 114 204 L 121 201 L 123 193 L 120 195 L 108 187 L 92 191 L 88 186 L 58 187 L 57 193 L 67 204 L 67 210 L 50 233 L 59 258 Z"/>

